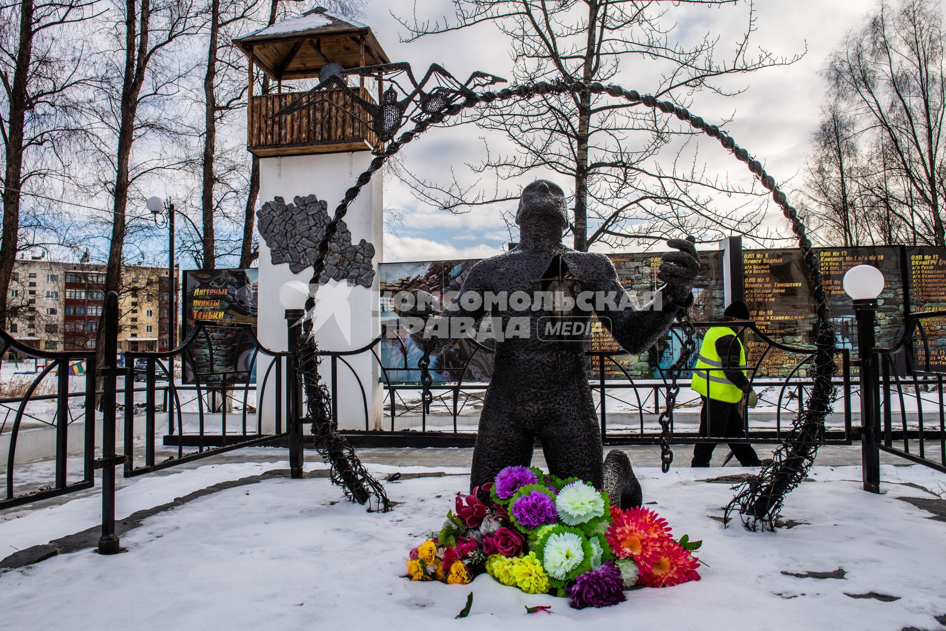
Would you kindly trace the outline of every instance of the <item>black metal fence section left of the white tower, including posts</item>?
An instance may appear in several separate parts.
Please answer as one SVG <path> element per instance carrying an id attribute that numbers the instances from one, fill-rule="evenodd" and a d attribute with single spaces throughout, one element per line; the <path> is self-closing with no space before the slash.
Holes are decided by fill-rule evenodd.
<path id="1" fill-rule="evenodd" d="M 12 380 L 22 392 L 8 393 L 0 398 L 0 413 L 3 414 L 0 416 L 0 449 L 6 447 L 7 452 L 3 480 L 5 493 L 0 499 L 0 510 L 93 488 L 96 485 L 95 471 L 101 469 L 102 535 L 98 552 L 115 553 L 121 550 L 114 529 L 115 466 L 122 465 L 124 476 L 131 478 L 240 447 L 287 440 L 289 461 L 297 464 L 292 467 L 292 477 L 301 477 L 302 442 L 288 440 L 290 434 L 298 437 L 302 433 L 299 418 L 301 391 L 298 384 L 290 382 L 295 375 L 288 352 L 267 349 L 256 340 L 252 329 L 246 327 L 242 335 L 248 344 L 244 346 L 253 349 L 249 367 L 222 372 L 211 368 L 208 372 L 199 366 L 195 356 L 208 348 L 213 353 L 212 345 L 198 343 L 201 336 L 206 341 L 209 328 L 199 324 L 178 348 L 164 353 L 127 353 L 125 364 L 119 367 L 118 296 L 114 292 L 105 297 L 101 326 L 105 341 L 105 361 L 101 366 L 96 365 L 94 351 L 40 351 L 18 342 L 0 329 L 0 355 L 9 350 L 45 364 L 38 373 L 20 379 L 22 383 Z M 261 378 L 254 383 L 252 375 L 259 356 L 271 360 Z M 179 382 L 176 375 L 178 362 L 182 368 L 190 368 L 192 383 Z M 211 367 L 215 365 L 212 359 L 204 362 L 207 363 Z M 82 389 L 73 391 L 70 390 L 70 373 L 74 376 L 79 373 L 77 366 L 84 368 L 84 377 L 80 377 Z M 44 392 L 50 389 L 47 377 L 54 377 L 55 385 L 51 388 L 55 392 Z M 143 387 L 134 386 L 136 377 L 144 379 Z M 122 387 L 119 387 L 119 379 L 123 381 Z M 159 381 L 163 383 L 159 385 Z M 9 384 L 9 380 L 5 384 Z M 74 380 L 74 385 L 79 384 Z M 139 398 L 143 394 L 144 401 L 136 401 L 136 394 Z M 266 397 L 272 397 L 275 403 L 271 431 L 264 429 L 262 415 L 258 412 Z M 235 401 L 239 404 L 239 411 L 237 428 L 233 430 L 230 422 Z M 196 407 L 196 411 L 188 411 L 188 406 Z M 119 409 L 122 412 L 120 426 Z M 143 431 L 135 428 L 136 421 L 142 421 L 139 418 L 142 413 L 138 412 L 144 416 Z M 177 447 L 176 453 L 161 462 L 157 460 L 159 415 L 165 417 L 168 437 L 172 439 L 165 442 Z M 194 428 L 188 422 L 191 417 L 195 419 Z M 216 426 L 217 420 L 219 426 Z M 70 435 L 77 427 L 82 428 L 81 442 L 70 444 Z M 28 479 L 20 482 L 22 476 L 18 472 L 26 465 L 23 461 L 29 459 L 29 454 L 26 458 L 18 458 L 18 445 L 22 451 L 25 440 L 47 439 L 49 428 L 54 429 L 52 452 L 55 454 L 55 464 L 49 474 L 51 480 L 44 479 L 44 471 L 38 473 L 34 470 Z M 120 447 L 117 445 L 119 428 L 124 434 Z M 31 432 L 31 429 L 42 430 L 42 435 Z M 139 433 L 143 436 L 143 445 L 136 444 L 135 435 Z M 47 453 L 48 447 L 44 444 L 37 448 Z M 184 447 L 196 449 L 185 452 Z M 73 454 L 74 461 L 75 454 L 79 455 L 80 464 L 74 464 L 76 471 L 68 468 L 70 454 Z"/>

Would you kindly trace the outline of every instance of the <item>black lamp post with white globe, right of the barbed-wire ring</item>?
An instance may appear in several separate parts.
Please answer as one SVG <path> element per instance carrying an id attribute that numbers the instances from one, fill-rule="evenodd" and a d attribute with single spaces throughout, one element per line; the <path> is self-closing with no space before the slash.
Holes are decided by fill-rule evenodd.
<path id="1" fill-rule="evenodd" d="M 884 274 L 871 265 L 858 265 L 844 274 L 844 290 L 857 318 L 857 354 L 861 372 L 861 479 L 864 490 L 881 492 L 880 381 L 874 352 L 874 315 L 877 296 L 884 290 Z"/>

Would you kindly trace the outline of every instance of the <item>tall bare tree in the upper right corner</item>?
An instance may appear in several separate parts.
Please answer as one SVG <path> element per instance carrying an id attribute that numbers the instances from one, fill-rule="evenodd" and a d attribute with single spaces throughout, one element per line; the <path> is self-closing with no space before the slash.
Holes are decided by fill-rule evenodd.
<path id="1" fill-rule="evenodd" d="M 848 109 L 852 133 L 871 154 L 858 184 L 882 211 L 886 236 L 939 246 L 946 245 L 944 37 L 931 0 L 881 0 L 827 69 L 832 98 Z"/>

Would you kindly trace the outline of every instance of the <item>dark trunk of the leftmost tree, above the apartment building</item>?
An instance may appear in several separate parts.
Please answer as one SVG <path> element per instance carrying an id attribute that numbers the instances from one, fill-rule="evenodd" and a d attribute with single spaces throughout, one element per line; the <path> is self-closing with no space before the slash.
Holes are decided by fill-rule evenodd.
<path id="1" fill-rule="evenodd" d="M 9 124 L 6 142 L 7 169 L 3 189 L 3 238 L 0 248 L 0 326 L 7 323 L 9 279 L 16 263 L 20 230 L 20 187 L 23 185 L 23 145 L 29 95 L 29 61 L 33 54 L 33 0 L 20 3 L 20 37 L 9 97 Z"/>

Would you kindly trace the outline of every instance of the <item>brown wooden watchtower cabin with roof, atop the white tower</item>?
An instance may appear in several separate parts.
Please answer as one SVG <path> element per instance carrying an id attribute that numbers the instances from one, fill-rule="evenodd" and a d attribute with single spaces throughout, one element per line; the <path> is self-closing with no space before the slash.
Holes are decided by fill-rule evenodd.
<path id="1" fill-rule="evenodd" d="M 342 19 L 322 7 L 298 17 L 260 28 L 234 40 L 249 58 L 247 149 L 259 157 L 336 153 L 375 149 L 372 116 L 342 90 L 312 99 L 310 106 L 273 116 L 305 91 L 284 92 L 283 81 L 318 79 L 324 66 L 344 69 L 389 63 L 369 26 Z M 254 96 L 254 69 L 260 68 L 276 85 L 272 94 Z M 309 82 L 311 83 L 311 81 Z M 353 88 L 371 102 L 364 78 Z M 381 81 L 377 81 L 377 92 Z M 379 100 L 379 97 L 378 97 Z"/>

